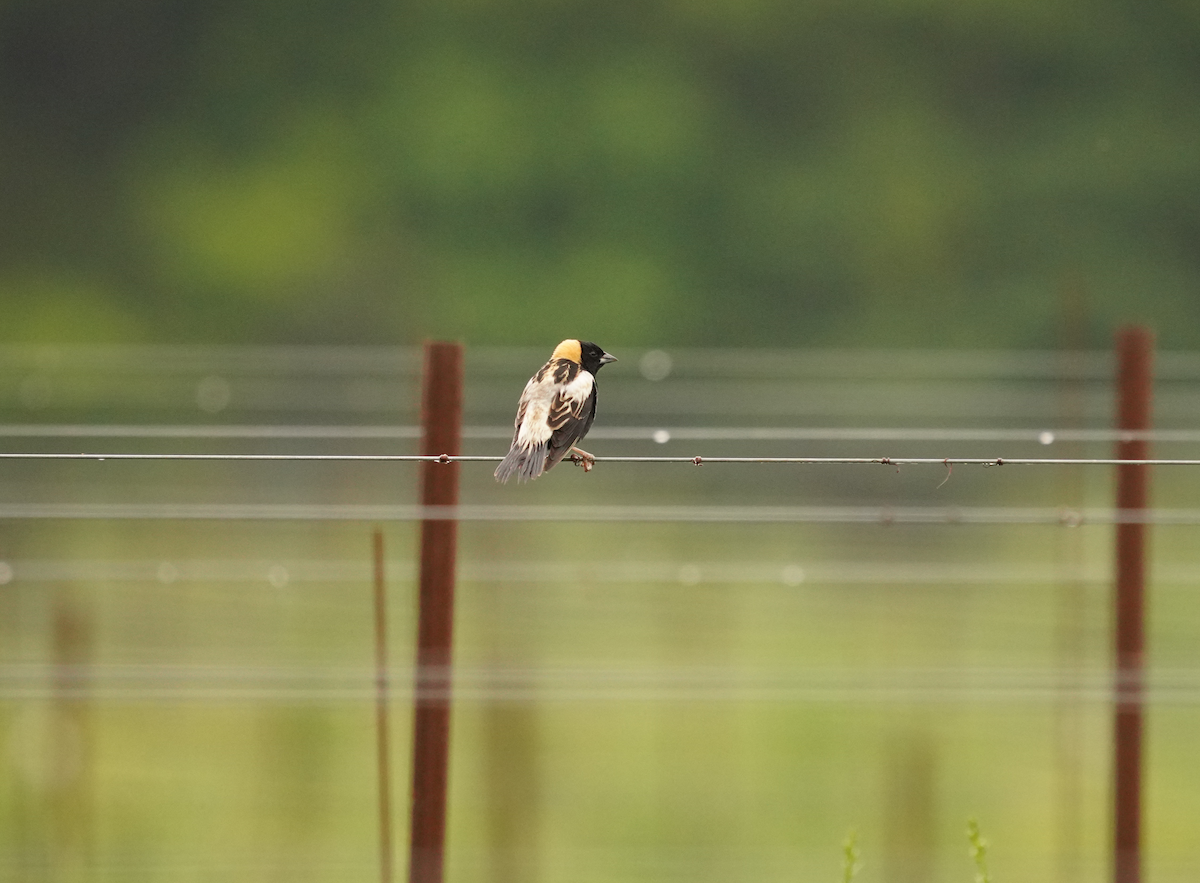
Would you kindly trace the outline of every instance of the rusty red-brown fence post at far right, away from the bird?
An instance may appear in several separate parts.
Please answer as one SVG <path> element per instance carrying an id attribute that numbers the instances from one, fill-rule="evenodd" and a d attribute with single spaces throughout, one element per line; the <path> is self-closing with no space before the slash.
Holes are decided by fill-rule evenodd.
<path id="1" fill-rule="evenodd" d="M 1117 332 L 1117 428 L 1151 427 L 1154 336 L 1145 328 Z M 1120 459 L 1148 459 L 1144 439 L 1120 440 Z M 1140 513 L 1148 501 L 1150 468 L 1117 467 L 1117 509 Z M 1112 727 L 1112 879 L 1141 879 L 1141 734 L 1146 585 L 1146 524 L 1116 527 L 1116 705 Z"/>

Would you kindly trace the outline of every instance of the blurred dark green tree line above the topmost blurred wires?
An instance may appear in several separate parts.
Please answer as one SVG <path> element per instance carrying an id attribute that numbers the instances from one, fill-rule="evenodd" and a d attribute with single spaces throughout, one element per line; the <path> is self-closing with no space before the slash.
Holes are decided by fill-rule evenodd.
<path id="1" fill-rule="evenodd" d="M 0 0 L 10 341 L 1200 347 L 1194 0 Z"/>

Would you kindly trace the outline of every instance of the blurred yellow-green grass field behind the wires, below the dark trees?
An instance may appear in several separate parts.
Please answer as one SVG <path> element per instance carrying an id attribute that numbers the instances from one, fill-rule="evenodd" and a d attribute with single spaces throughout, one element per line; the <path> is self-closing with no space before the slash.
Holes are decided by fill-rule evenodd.
<path id="1" fill-rule="evenodd" d="M 661 360 L 612 352 L 622 362 L 600 378 L 588 445 L 600 456 L 1111 450 L 1036 438 L 1109 426 L 1103 354 L 1072 362 L 1084 368 L 1068 382 L 1052 354 L 683 353 L 654 380 Z M 504 452 L 544 359 L 470 353 L 466 452 Z M 415 445 L 407 430 L 347 437 L 413 426 L 408 352 L 5 350 L 0 366 L 10 451 Z M 1169 354 L 1162 371 L 1158 425 L 1189 430 L 1200 359 Z M 61 430 L 97 424 L 193 428 Z M 347 432 L 221 438 L 198 426 Z M 1033 434 L 696 438 L 756 427 Z M 661 428 L 673 437 L 659 444 Z M 415 475 L 395 463 L 2 462 L 0 503 L 407 504 Z M 1111 477 L 601 463 L 499 487 L 478 463 L 462 468 L 462 497 L 1105 507 Z M 1192 507 L 1198 488 L 1200 474 L 1162 468 L 1154 504 Z M 403 870 L 416 534 L 383 527 Z M 378 879 L 372 528 L 0 521 L 0 879 Z M 1151 883 L 1190 881 L 1200 860 L 1198 531 L 1157 527 L 1151 541 Z M 1111 535 L 1104 524 L 463 523 L 448 879 L 838 881 L 856 829 L 860 883 L 966 882 L 968 817 L 995 881 L 1106 879 Z"/>

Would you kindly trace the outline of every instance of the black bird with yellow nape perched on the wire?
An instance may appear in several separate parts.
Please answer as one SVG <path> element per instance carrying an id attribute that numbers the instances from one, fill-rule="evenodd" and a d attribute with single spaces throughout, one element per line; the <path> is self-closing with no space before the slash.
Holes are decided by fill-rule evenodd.
<path id="1" fill-rule="evenodd" d="M 496 468 L 496 480 L 530 481 L 570 453 L 584 470 L 595 463 L 575 447 L 588 434 L 596 415 L 595 373 L 617 361 L 588 341 L 563 341 L 550 361 L 529 378 L 517 403 L 512 447 Z"/>

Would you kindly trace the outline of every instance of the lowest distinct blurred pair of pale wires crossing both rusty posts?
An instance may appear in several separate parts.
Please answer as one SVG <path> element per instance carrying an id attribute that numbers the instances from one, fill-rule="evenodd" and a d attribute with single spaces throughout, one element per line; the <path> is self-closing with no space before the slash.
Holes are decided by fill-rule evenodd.
<path id="1" fill-rule="evenodd" d="M 0 665 L 0 701 L 373 702 L 376 669 L 316 666 Z M 394 698 L 448 698 L 442 669 L 389 669 Z M 455 702 L 1200 704 L 1200 668 L 1153 669 L 1126 691 L 1111 669 L 726 666 L 455 666 Z M 1126 695 L 1128 693 L 1128 695 Z"/>

